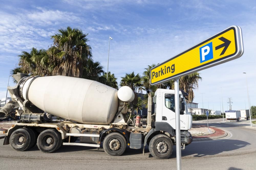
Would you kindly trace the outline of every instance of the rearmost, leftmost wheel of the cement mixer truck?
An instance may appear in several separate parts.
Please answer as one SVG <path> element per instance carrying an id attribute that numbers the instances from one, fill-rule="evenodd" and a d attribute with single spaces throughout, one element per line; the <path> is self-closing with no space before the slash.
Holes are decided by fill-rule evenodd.
<path id="1" fill-rule="evenodd" d="M 25 151 L 31 143 L 30 133 L 25 128 L 17 129 L 11 134 L 9 142 L 14 150 Z"/>

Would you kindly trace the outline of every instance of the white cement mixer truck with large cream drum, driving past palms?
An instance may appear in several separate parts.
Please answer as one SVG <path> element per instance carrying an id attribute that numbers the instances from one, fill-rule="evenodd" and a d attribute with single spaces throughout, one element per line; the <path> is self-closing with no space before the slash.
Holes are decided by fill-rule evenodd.
<path id="1" fill-rule="evenodd" d="M 153 101 L 148 91 L 147 124 L 140 126 L 125 116 L 127 104 L 134 100 L 128 86 L 117 90 L 96 81 L 67 76 L 18 73 L 13 77 L 17 85 L 7 87 L 13 101 L 0 110 L 0 117 L 21 108 L 17 113 L 20 120 L 8 129 L 3 145 L 10 144 L 16 151 L 37 145 L 44 153 L 54 152 L 62 145 L 103 147 L 110 156 L 122 155 L 127 147 L 143 148 L 144 154 L 148 145 L 156 159 L 167 159 L 172 154 L 176 145 L 174 90 L 157 89 Z M 185 149 L 192 142 L 188 132 L 192 116 L 185 101 L 188 94 L 180 90 L 179 95 L 181 147 Z M 66 121 L 53 121 L 46 113 Z"/>

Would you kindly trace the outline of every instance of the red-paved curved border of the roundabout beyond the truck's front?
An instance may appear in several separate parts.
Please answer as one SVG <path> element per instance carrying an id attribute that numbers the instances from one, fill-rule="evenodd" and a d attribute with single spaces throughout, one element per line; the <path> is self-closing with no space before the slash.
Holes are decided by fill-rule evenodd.
<path id="1" fill-rule="evenodd" d="M 196 124 L 194 124 L 194 125 L 196 125 Z M 199 126 L 202 126 L 202 125 L 199 125 Z M 228 135 L 228 133 L 225 132 L 222 129 L 218 129 L 218 128 L 215 128 L 215 127 L 209 127 L 209 128 L 215 130 L 215 133 L 212 133 L 212 134 L 209 134 L 209 135 L 204 135 L 204 136 L 194 136 L 194 137 L 192 136 L 193 141 L 219 139 L 219 138 L 226 137 Z M 216 136 L 218 134 L 219 134 L 219 136 Z"/>

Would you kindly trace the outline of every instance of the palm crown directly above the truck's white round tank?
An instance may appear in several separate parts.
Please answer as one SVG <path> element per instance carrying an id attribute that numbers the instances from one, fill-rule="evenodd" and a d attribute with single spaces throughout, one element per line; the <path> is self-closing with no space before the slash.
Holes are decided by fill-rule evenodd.
<path id="1" fill-rule="evenodd" d="M 141 76 L 139 74 L 134 74 L 134 71 L 130 74 L 125 74 L 124 77 L 121 77 L 122 80 L 120 82 L 120 86 L 129 86 L 133 90 L 133 92 L 142 92 L 142 81 Z"/>

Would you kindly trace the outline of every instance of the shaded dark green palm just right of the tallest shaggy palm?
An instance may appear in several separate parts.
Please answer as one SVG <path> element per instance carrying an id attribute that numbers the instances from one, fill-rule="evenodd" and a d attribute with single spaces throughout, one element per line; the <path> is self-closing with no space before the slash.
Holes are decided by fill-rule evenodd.
<path id="1" fill-rule="evenodd" d="M 103 68 L 99 61 L 94 62 L 93 59 L 88 59 L 86 66 L 84 66 L 82 78 L 100 82 L 101 76 L 104 74 Z"/>

